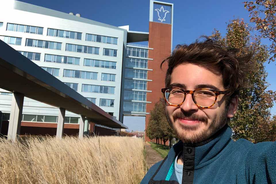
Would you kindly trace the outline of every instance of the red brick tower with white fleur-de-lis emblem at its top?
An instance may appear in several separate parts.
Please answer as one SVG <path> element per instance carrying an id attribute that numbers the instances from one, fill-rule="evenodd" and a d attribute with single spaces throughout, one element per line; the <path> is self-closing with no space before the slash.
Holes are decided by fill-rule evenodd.
<path id="1" fill-rule="evenodd" d="M 146 111 L 150 113 L 154 104 L 162 97 L 161 88 L 165 87 L 165 74 L 167 66 L 160 69 L 161 62 L 170 55 L 172 49 L 173 36 L 173 4 L 160 1 L 150 1 L 150 26 L 149 26 L 149 58 L 153 61 L 148 62 L 148 79 L 152 82 L 147 83 L 147 101 L 151 104 L 146 105 Z M 150 114 L 146 115 L 145 130 L 149 122 Z M 150 139 L 145 135 L 145 141 Z"/>

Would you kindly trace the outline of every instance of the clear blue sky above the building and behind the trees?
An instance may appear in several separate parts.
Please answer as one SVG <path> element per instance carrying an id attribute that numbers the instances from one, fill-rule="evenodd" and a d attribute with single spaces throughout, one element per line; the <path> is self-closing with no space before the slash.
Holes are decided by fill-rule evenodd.
<path id="1" fill-rule="evenodd" d="M 55 9 L 62 12 L 79 13 L 82 17 L 114 26 L 129 25 L 130 30 L 148 32 L 149 0 L 20 0 L 26 3 Z M 236 1 L 183 1 L 166 0 L 174 4 L 173 48 L 177 44 L 189 44 L 201 35 L 211 35 L 214 28 L 224 36 L 229 20 L 243 18 L 249 22 L 248 11 L 244 9 L 244 0 Z M 263 40 L 263 44 L 269 44 Z M 267 81 L 271 84 L 267 89 L 276 91 L 276 62 L 265 64 L 268 72 Z M 161 88 L 161 87 L 160 87 Z M 271 110 L 276 115 L 276 105 Z M 126 117 L 124 124 L 129 130 L 143 130 L 143 117 Z"/>

